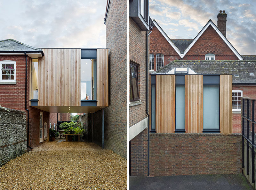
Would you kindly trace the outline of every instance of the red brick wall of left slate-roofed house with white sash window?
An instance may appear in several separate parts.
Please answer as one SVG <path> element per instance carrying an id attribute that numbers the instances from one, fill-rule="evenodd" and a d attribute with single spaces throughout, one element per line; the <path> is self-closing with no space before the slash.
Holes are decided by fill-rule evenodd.
<path id="1" fill-rule="evenodd" d="M 11 60 L 16 62 L 16 84 L 0 84 L 0 104 L 1 106 L 25 111 L 25 77 L 26 77 L 26 59 L 24 55 L 3 55 L 0 56 L 0 61 Z M 47 122 L 49 128 L 49 112 L 36 109 L 29 106 L 29 62 L 27 56 L 27 109 L 29 110 L 29 146 L 34 148 L 39 145 L 39 112 L 43 112 L 43 125 Z M 57 119 L 57 116 L 56 116 Z M 48 132 L 48 129 L 47 129 Z M 43 130 L 44 133 L 44 130 Z M 44 135 L 44 134 L 43 134 Z M 47 134 L 48 136 L 48 134 Z M 46 140 L 47 141 L 47 140 Z"/>

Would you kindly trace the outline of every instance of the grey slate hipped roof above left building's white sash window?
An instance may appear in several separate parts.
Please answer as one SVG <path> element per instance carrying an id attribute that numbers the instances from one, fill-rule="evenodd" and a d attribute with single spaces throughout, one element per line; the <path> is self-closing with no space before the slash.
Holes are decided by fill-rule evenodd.
<path id="1" fill-rule="evenodd" d="M 13 52 L 43 52 L 39 48 L 34 48 L 27 44 L 21 43 L 17 40 L 7 39 L 0 40 L 0 52 L 1 51 L 13 51 Z"/>

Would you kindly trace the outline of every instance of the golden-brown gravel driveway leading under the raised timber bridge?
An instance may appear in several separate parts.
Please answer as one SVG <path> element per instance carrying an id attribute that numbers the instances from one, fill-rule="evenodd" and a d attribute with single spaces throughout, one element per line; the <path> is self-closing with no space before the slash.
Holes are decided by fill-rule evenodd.
<path id="1" fill-rule="evenodd" d="M 88 142 L 47 142 L 0 168 L 0 189 L 126 189 L 126 159 Z"/>

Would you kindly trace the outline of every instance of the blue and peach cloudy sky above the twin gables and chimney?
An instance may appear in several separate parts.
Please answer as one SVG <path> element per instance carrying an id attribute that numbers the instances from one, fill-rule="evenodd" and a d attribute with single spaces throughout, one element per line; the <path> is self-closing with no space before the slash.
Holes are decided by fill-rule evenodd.
<path id="1" fill-rule="evenodd" d="M 149 0 L 152 19 L 171 39 L 194 39 L 217 14 L 225 10 L 227 39 L 241 55 L 256 55 L 256 1 L 247 0 Z"/>

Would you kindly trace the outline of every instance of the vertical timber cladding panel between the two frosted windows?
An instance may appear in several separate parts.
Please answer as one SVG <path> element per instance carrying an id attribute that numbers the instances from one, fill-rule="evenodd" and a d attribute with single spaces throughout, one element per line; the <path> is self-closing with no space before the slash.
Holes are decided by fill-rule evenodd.
<path id="1" fill-rule="evenodd" d="M 202 133 L 203 75 L 185 76 L 185 128 L 186 133 Z"/>

